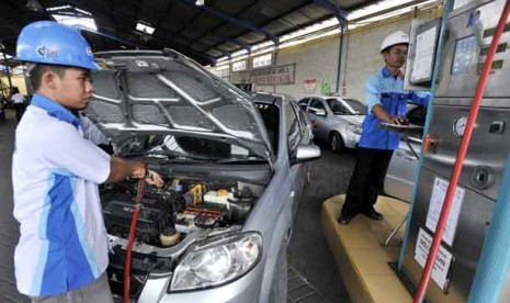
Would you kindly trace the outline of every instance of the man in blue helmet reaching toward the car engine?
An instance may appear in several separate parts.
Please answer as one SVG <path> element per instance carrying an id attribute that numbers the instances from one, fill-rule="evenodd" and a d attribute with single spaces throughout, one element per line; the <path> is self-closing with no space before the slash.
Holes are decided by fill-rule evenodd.
<path id="1" fill-rule="evenodd" d="M 18 290 L 33 302 L 113 302 L 105 269 L 109 239 L 98 184 L 126 177 L 161 186 L 143 162 L 110 156 L 72 112 L 92 94 L 99 69 L 80 33 L 39 21 L 25 26 L 16 47 L 35 90 L 15 133 L 12 159 Z"/>

